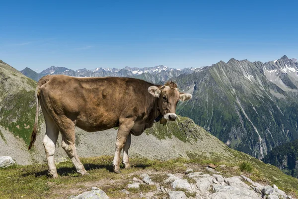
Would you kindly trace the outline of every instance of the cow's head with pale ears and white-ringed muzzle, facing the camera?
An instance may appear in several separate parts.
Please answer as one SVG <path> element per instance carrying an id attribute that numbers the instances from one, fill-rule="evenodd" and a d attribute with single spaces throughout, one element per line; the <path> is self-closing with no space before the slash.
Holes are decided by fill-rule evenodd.
<path id="1" fill-rule="evenodd" d="M 161 87 L 149 87 L 149 93 L 158 98 L 158 107 L 160 109 L 163 118 L 170 121 L 175 121 L 176 106 L 178 101 L 186 101 L 192 98 L 191 94 L 180 93 L 177 89 L 177 85 L 173 82 L 166 83 Z"/>

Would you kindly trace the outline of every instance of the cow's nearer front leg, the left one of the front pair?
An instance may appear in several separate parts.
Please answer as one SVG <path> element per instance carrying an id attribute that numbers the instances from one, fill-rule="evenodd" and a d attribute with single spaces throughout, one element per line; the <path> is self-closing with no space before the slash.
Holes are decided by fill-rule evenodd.
<path id="1" fill-rule="evenodd" d="M 125 142 L 130 134 L 130 130 L 134 126 L 134 120 L 132 119 L 125 119 L 119 125 L 117 139 L 116 139 L 116 151 L 113 160 L 113 167 L 115 173 L 120 173 L 120 153 L 125 145 Z"/>

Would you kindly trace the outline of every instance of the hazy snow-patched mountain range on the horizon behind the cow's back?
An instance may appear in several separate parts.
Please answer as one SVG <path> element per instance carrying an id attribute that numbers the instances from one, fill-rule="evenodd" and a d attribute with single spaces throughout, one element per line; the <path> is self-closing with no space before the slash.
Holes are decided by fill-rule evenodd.
<path id="1" fill-rule="evenodd" d="M 94 70 L 87 70 L 84 68 L 76 71 L 65 67 L 51 66 L 50 68 L 42 71 L 39 74 L 35 73 L 29 68 L 25 68 L 21 71 L 21 73 L 35 81 L 38 81 L 45 75 L 62 74 L 74 77 L 134 77 L 157 84 L 165 82 L 181 74 L 190 74 L 197 71 L 200 71 L 200 68 L 172 69 L 162 65 L 145 68 L 131 68 L 127 66 L 123 69 L 96 68 Z"/>

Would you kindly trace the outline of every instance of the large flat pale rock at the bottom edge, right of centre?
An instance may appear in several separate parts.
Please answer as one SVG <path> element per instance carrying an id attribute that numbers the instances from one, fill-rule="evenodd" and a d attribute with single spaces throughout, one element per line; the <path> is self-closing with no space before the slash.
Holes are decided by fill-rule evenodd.
<path id="1" fill-rule="evenodd" d="M 239 188 L 235 186 L 213 185 L 215 193 L 210 195 L 210 199 L 260 199 L 261 197 L 253 190 Z"/>

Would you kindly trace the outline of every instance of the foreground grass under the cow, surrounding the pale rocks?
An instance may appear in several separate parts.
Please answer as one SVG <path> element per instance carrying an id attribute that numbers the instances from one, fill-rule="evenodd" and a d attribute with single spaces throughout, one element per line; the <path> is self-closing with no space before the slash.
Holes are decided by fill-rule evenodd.
<path id="1" fill-rule="evenodd" d="M 178 158 L 169 161 L 132 158 L 131 169 L 122 169 L 121 174 L 115 174 L 112 172 L 112 160 L 113 157 L 110 156 L 81 158 L 81 162 L 90 174 L 87 176 L 78 175 L 71 161 L 59 163 L 56 165 L 60 176 L 57 179 L 47 177 L 47 165 L 45 164 L 13 165 L 0 169 L 1 199 L 20 198 L 21 196 L 30 199 L 68 198 L 71 195 L 78 195 L 88 191 L 91 187 L 102 189 L 111 199 L 124 198 L 127 196 L 121 190 L 127 189 L 127 184 L 132 183 L 134 177 L 139 178 L 140 174 L 148 173 L 154 182 L 160 183 L 160 185 L 169 189 L 170 185 L 163 183 L 167 178 L 166 173 L 184 175 L 186 168 L 196 168 L 199 171 L 203 170 L 209 163 L 216 165 L 224 163 L 225 168 L 216 168 L 217 171 L 223 173 L 224 177 L 243 174 L 262 184 L 276 184 L 286 193 L 298 196 L 297 179 L 287 176 L 278 168 L 268 166 L 254 158 L 250 160 L 254 167 L 251 173 L 241 172 L 238 165 L 243 161 L 239 161 L 239 163 L 218 162 L 218 160 L 203 159 L 201 157 L 190 160 Z M 258 161 L 258 163 L 256 164 L 255 161 Z M 189 183 L 194 183 L 191 179 L 187 180 Z M 145 195 L 155 190 L 155 186 L 144 184 L 140 186 L 140 190 L 129 189 L 128 191 L 132 193 L 129 195 L 130 198 L 138 198 L 140 192 Z M 194 193 L 186 193 L 186 195 L 193 197 Z"/>

